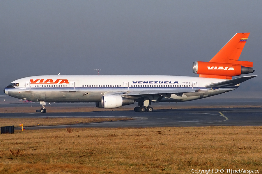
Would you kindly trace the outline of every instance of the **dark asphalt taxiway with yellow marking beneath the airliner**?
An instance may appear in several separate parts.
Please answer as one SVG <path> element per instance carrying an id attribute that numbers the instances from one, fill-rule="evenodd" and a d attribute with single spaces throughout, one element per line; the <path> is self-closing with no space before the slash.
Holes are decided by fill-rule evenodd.
<path id="1" fill-rule="evenodd" d="M 99 122 L 62 126 L 36 126 L 26 129 L 51 128 L 117 128 L 166 126 L 262 126 L 262 108 L 196 108 L 154 110 L 153 113 L 134 111 L 102 111 L 87 113 L 0 113 L 0 118 L 21 117 L 132 117 L 128 121 Z M 21 128 L 15 128 L 21 129 Z"/>

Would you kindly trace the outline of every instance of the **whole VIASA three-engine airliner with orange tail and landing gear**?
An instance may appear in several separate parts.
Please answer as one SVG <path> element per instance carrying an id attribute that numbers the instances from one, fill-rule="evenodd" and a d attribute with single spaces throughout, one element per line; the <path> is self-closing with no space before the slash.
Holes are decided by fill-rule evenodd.
<path id="1" fill-rule="evenodd" d="M 193 63 L 199 77 L 171 75 L 42 75 L 11 82 L 4 93 L 18 99 L 39 102 L 95 102 L 98 108 L 118 108 L 138 103 L 135 112 L 153 112 L 154 102 L 185 102 L 235 90 L 256 77 L 253 62 L 239 61 L 249 33 L 234 37 L 208 62 Z"/>

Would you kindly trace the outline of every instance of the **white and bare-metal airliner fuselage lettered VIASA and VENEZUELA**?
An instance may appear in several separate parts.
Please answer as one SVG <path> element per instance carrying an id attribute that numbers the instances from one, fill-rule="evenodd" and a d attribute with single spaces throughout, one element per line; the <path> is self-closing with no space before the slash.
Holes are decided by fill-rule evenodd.
<path id="1" fill-rule="evenodd" d="M 183 102 L 225 93 L 238 87 L 216 90 L 205 87 L 225 80 L 170 75 L 43 75 L 15 80 L 5 88 L 5 93 L 33 102 L 101 102 L 102 96 L 121 92 L 191 90 L 169 96 L 161 94 L 158 100 L 152 98 L 152 102 Z M 135 102 L 141 97 L 128 96 Z"/>

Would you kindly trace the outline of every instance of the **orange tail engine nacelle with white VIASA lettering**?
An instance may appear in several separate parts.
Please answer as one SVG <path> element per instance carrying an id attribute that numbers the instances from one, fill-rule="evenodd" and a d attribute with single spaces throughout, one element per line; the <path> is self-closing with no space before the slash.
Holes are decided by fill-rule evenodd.
<path id="1" fill-rule="evenodd" d="M 241 66 L 239 64 L 201 62 L 193 63 L 193 73 L 203 75 L 219 75 L 219 76 L 238 76 L 241 74 L 253 73 L 253 68 Z"/>

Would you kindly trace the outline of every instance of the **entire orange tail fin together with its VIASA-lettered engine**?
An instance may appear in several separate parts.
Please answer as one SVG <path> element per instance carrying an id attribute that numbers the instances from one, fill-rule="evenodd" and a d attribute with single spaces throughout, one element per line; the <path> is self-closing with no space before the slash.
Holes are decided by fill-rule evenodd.
<path id="1" fill-rule="evenodd" d="M 253 73 L 253 62 L 238 60 L 248 36 L 249 33 L 237 33 L 209 62 L 194 62 L 193 73 L 219 79 Z"/>

